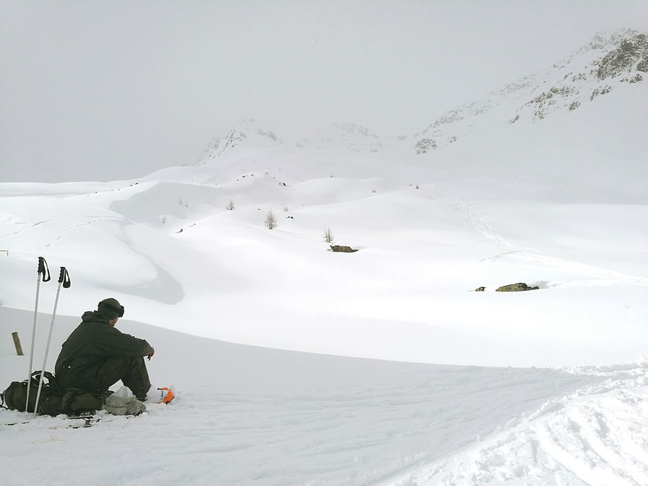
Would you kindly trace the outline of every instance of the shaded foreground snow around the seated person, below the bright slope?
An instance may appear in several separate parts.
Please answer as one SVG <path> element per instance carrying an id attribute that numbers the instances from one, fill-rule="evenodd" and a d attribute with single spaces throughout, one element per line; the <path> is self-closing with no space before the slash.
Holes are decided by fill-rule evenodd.
<path id="1" fill-rule="evenodd" d="M 4 322 L 15 323 L 21 315 L 0 307 Z M 54 341 L 62 342 L 77 321 L 59 316 Z M 404 483 L 403 475 L 428 474 L 430 465 L 461 458 L 471 448 L 485 448 L 486 461 L 502 434 L 522 444 L 539 441 L 535 423 L 554 424 L 552 433 L 565 441 L 570 434 L 578 437 L 577 430 L 561 432 L 561 413 L 578 400 L 600 402 L 601 420 L 616 430 L 619 424 L 608 413 L 617 409 L 600 401 L 606 393 L 621 396 L 627 389 L 636 403 L 628 402 L 628 416 L 632 406 L 643 407 L 645 397 L 638 381 L 644 365 L 574 373 L 399 363 L 224 343 L 137 329 L 128 321 L 122 326 L 156 343 L 152 381 L 171 386 L 176 399 L 168 406 L 149 404 L 147 413 L 132 419 L 100 412 L 102 421 L 91 428 L 50 429 L 64 424 L 58 417 L 0 426 L 3 485 L 23 484 L 25 470 L 31 484 L 48 486 L 82 485 L 87 478 L 96 486 L 425 485 Z M 21 380 L 27 366 L 27 358 L 12 356 L 6 341 L 0 343 L 3 386 Z M 576 410 L 586 415 L 582 407 Z M 0 410 L 1 423 L 25 416 Z M 627 450 L 644 447 L 645 416 L 637 415 Z M 600 461 L 612 461 L 608 456 L 601 452 Z M 523 454 L 516 460 L 532 459 Z M 580 477 L 569 465 L 562 467 Z"/>

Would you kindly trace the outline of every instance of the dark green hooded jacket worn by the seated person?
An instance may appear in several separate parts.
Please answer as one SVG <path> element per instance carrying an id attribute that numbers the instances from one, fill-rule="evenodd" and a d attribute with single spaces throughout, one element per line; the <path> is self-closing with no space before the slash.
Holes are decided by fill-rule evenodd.
<path id="1" fill-rule="evenodd" d="M 115 329 L 96 310 L 84 313 L 81 319 L 56 360 L 54 374 L 64 388 L 83 388 L 79 385 L 93 382 L 109 357 L 147 356 L 153 352 L 145 340 Z"/>

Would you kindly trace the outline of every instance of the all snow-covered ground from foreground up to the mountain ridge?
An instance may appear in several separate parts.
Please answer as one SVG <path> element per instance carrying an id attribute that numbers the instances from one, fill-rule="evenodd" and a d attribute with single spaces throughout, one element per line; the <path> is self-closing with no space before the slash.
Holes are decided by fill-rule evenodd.
<path id="1" fill-rule="evenodd" d="M 178 392 L 92 428 L 0 426 L 3 484 L 647 484 L 648 80 L 529 105 L 584 52 L 442 117 L 425 154 L 421 134 L 297 146 L 247 121 L 199 165 L 0 183 L 3 388 L 27 376 L 9 334 L 29 349 L 43 256 L 34 369 L 65 266 L 46 369 L 115 297 Z M 327 251 L 329 227 L 358 251 Z M 516 282 L 539 290 L 494 292 Z"/>

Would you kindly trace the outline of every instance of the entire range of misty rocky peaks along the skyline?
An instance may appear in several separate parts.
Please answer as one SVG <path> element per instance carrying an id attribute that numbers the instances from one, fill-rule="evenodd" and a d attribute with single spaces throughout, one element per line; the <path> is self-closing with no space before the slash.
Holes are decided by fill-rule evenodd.
<path id="1" fill-rule="evenodd" d="M 632 29 L 600 32 L 545 71 L 511 82 L 482 100 L 447 111 L 413 135 L 384 136 L 353 123 L 333 124 L 312 137 L 289 145 L 352 153 L 421 155 L 434 152 L 439 147 L 462 143 L 471 133 L 484 130 L 484 126 L 495 125 L 506 130 L 507 123 L 538 122 L 552 113 L 578 110 L 598 102 L 597 98 L 613 90 L 625 93 L 642 91 L 645 94 L 647 83 L 643 80 L 648 72 L 647 46 L 645 32 Z M 228 147 L 267 148 L 281 144 L 273 132 L 248 120 L 225 137 L 214 138 L 198 163 L 222 155 Z"/>

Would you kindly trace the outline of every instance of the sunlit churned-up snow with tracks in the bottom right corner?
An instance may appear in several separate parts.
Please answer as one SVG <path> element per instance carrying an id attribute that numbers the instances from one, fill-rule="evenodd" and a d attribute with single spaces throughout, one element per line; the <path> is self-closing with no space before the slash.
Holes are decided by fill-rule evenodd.
<path id="1" fill-rule="evenodd" d="M 646 485 L 648 379 L 637 371 L 550 400 L 499 434 L 373 486 Z"/>

